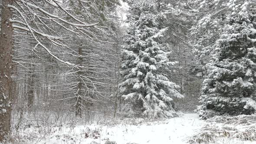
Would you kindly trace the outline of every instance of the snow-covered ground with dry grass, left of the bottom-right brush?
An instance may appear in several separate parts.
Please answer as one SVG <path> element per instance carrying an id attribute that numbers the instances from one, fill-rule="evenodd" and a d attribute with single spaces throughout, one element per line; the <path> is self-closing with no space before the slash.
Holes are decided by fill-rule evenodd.
<path id="1" fill-rule="evenodd" d="M 205 122 L 199 120 L 197 114 L 184 114 L 179 118 L 138 125 L 124 122 L 115 126 L 92 124 L 76 125 L 73 128 L 58 126 L 49 128 L 49 130 L 26 128 L 20 131 L 19 137 L 29 135 L 32 144 L 90 144 L 92 141 L 104 144 L 106 139 L 116 141 L 117 144 L 186 144 L 187 138 L 203 124 Z M 40 133 L 40 131 L 43 132 Z M 97 137 L 97 133 L 100 137 Z M 97 139 L 92 137 L 93 134 Z M 22 141 L 28 143 L 24 139 Z"/>

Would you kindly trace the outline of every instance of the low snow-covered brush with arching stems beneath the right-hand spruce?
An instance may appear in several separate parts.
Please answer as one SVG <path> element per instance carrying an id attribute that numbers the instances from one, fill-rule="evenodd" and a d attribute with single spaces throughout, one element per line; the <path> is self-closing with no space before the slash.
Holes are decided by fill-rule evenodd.
<path id="1" fill-rule="evenodd" d="M 189 139 L 194 143 L 218 143 L 220 139 L 256 141 L 256 115 L 215 116 Z"/>

